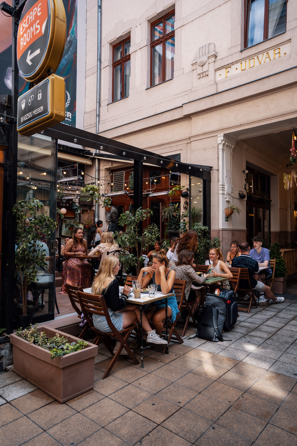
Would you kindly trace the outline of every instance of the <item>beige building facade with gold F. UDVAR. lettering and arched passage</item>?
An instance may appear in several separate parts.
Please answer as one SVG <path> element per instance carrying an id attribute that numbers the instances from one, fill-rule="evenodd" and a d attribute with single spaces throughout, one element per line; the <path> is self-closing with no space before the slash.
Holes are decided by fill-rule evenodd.
<path id="1" fill-rule="evenodd" d="M 294 1 L 101 3 L 99 133 L 211 166 L 211 233 L 224 253 L 253 235 L 295 243 L 297 198 L 283 183 L 297 126 Z M 95 132 L 98 2 L 86 11 L 84 129 Z M 128 168 L 100 161 L 100 178 Z M 231 203 L 242 212 L 225 218 Z"/>

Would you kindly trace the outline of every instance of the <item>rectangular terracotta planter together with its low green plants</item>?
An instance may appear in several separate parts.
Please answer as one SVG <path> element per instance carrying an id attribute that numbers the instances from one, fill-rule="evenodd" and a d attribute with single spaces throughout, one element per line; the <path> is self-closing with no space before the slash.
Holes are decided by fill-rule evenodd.
<path id="1" fill-rule="evenodd" d="M 46 326 L 10 335 L 13 371 L 60 403 L 94 388 L 98 346 Z"/>

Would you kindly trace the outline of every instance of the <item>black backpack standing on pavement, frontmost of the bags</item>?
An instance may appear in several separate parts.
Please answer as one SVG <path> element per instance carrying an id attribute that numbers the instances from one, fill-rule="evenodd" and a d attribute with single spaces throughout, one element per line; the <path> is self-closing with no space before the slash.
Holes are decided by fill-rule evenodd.
<path id="1" fill-rule="evenodd" d="M 207 341 L 219 342 L 223 341 L 223 336 L 218 327 L 219 310 L 213 305 L 205 305 L 202 314 L 200 325 L 196 336 Z"/>

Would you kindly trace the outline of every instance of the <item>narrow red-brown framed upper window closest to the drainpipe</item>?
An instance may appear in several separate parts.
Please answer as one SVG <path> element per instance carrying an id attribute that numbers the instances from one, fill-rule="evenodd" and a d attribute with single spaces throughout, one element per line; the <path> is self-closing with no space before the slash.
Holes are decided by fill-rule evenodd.
<path id="1" fill-rule="evenodd" d="M 130 36 L 112 48 L 112 102 L 129 96 Z"/>

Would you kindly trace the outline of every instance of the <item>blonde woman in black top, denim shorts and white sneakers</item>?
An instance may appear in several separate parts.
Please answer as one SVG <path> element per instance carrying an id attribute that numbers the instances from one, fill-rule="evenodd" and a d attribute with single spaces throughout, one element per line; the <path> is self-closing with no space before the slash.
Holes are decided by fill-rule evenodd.
<path id="1" fill-rule="evenodd" d="M 103 295 L 110 314 L 111 322 L 118 331 L 136 323 L 136 321 L 140 322 L 139 307 L 131 304 L 126 305 L 126 299 L 131 288 L 125 285 L 122 295 L 120 296 L 119 294 L 118 281 L 115 278 L 119 268 L 120 263 L 116 256 L 106 256 L 100 263 L 100 268 L 92 285 L 93 294 Z M 102 333 L 112 332 L 105 316 L 93 314 L 93 323 L 94 327 L 102 331 Z M 142 327 L 147 332 L 147 337 L 149 338 L 146 342 L 151 342 L 153 344 L 167 344 L 167 341 L 161 339 L 160 336 L 156 335 L 155 331 L 151 329 L 144 313 L 142 313 Z M 114 354 L 118 351 L 119 347 L 120 343 L 117 341 L 114 347 Z M 122 355 L 127 355 L 126 350 L 122 350 Z"/>

